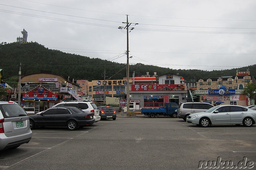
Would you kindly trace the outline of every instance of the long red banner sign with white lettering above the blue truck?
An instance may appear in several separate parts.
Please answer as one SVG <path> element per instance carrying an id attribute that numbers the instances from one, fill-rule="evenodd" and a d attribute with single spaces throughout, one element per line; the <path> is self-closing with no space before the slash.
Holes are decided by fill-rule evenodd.
<path id="1" fill-rule="evenodd" d="M 132 91 L 184 91 L 185 85 L 132 85 Z"/>

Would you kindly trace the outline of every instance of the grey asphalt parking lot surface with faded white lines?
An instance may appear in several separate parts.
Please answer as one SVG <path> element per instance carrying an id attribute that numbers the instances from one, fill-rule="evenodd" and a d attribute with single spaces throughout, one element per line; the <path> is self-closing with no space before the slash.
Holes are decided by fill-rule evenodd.
<path id="1" fill-rule="evenodd" d="M 0 169 L 194 170 L 200 161 L 237 165 L 244 157 L 245 166 L 255 169 L 255 130 L 256 125 L 201 128 L 178 118 L 124 115 L 76 131 L 37 128 L 28 144 L 0 151 Z"/>

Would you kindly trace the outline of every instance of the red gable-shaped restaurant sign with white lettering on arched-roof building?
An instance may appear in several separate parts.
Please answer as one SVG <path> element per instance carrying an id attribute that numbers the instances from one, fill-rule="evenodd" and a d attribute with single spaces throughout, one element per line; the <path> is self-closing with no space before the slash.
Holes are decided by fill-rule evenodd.
<path id="1" fill-rule="evenodd" d="M 22 99 L 34 99 L 34 100 L 57 100 L 58 96 L 57 94 L 54 94 L 53 92 L 50 92 L 44 86 L 39 85 L 34 90 L 31 90 L 30 92 L 22 94 Z"/>

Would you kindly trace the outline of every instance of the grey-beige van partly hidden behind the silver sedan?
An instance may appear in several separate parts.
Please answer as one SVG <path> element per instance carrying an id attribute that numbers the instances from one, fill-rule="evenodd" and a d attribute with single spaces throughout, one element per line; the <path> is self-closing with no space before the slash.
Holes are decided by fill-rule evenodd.
<path id="1" fill-rule="evenodd" d="M 201 103 L 201 102 L 187 102 L 187 103 L 179 103 L 178 107 L 178 118 L 186 121 L 188 116 L 192 113 L 204 112 L 209 108 L 213 107 L 210 103 Z"/>

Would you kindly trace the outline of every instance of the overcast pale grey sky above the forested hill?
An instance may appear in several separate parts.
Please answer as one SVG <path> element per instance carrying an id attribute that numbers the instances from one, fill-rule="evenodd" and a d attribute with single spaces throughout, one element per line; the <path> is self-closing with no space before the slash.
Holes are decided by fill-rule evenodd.
<path id="1" fill-rule="evenodd" d="M 29 42 L 126 63 L 118 27 L 129 15 L 129 63 L 232 69 L 256 64 L 255 9 L 255 0 L 0 0 L 0 42 L 24 28 Z"/>

